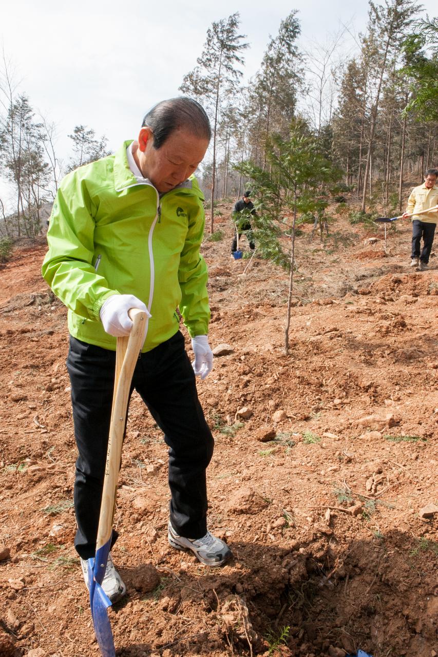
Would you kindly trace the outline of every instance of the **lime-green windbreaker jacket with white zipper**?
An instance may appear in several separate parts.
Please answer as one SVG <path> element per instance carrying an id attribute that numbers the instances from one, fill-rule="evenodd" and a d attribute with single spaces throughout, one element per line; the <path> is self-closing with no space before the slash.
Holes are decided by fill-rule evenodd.
<path id="1" fill-rule="evenodd" d="M 47 231 L 42 273 L 68 307 L 78 340 L 115 350 L 99 311 L 112 294 L 134 294 L 149 319 L 143 351 L 174 335 L 179 307 L 191 337 L 208 333 L 203 194 L 194 177 L 159 197 L 128 166 L 126 141 L 115 155 L 66 175 Z"/>

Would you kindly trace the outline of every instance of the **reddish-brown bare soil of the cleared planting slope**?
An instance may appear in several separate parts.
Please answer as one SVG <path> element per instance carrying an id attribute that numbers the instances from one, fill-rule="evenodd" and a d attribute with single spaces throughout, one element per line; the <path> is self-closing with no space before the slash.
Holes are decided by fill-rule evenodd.
<path id="1" fill-rule="evenodd" d="M 338 217 L 323 243 L 306 227 L 285 355 L 287 275 L 233 260 L 222 212 L 224 239 L 203 253 L 210 344 L 232 351 L 198 389 L 216 441 L 209 528 L 234 559 L 208 569 L 168 545 L 166 445 L 134 394 L 117 655 L 434 657 L 438 514 L 420 510 L 438 504 L 437 258 L 412 270 L 401 222 L 386 253 L 381 227 Z M 0 272 L 0 655 L 98 656 L 72 546 L 66 310 L 40 277 L 45 248 Z"/>

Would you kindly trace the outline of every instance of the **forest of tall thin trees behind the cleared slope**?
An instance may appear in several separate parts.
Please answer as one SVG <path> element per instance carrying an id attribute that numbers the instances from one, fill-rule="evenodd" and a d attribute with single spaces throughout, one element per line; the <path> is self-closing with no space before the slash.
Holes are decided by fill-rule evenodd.
<path id="1" fill-rule="evenodd" d="M 292 10 L 246 83 L 244 32 L 239 12 L 212 22 L 177 92 L 202 102 L 212 122 L 199 176 L 210 233 L 216 200 L 241 196 L 255 171 L 276 175 L 273 158 L 292 138 L 305 139 L 312 157 L 320 156 L 314 173 L 322 184 L 314 195 L 342 204 L 343 194 L 353 193 L 358 221 L 377 207 L 401 210 L 404 177 L 416 172 L 420 182 L 422 171 L 438 164 L 438 19 L 413 0 L 370 1 L 363 32 L 339 22 L 337 34 L 304 49 L 299 12 Z M 347 37 L 353 53 L 343 47 Z M 109 149 L 99 127 L 79 123 L 68 134 L 68 156 L 60 156 L 56 120 L 34 108 L 5 51 L 0 100 L 0 172 L 8 183 L 1 188 L 7 193 L 0 198 L 0 238 L 11 244 L 41 233 L 64 173 Z"/>

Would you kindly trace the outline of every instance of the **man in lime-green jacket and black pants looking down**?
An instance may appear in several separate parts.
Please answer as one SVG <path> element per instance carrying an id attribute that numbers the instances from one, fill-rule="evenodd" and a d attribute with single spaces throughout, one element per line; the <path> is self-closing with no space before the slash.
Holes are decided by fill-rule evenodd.
<path id="1" fill-rule="evenodd" d="M 78 459 L 74 484 L 85 583 L 95 556 L 109 436 L 116 338 L 132 328 L 128 310 L 147 313 L 135 367 L 137 390 L 169 447 L 168 541 L 208 566 L 231 551 L 207 530 L 206 468 L 213 438 L 195 375 L 212 369 L 207 265 L 199 253 L 203 194 L 193 177 L 210 140 L 207 114 L 185 97 L 159 102 L 136 141 L 63 179 L 50 219 L 43 277 L 68 307 L 67 369 Z M 177 308 L 195 354 L 184 349 Z M 116 533 L 113 537 L 116 539 Z M 103 589 L 114 601 L 126 587 L 109 557 Z"/>

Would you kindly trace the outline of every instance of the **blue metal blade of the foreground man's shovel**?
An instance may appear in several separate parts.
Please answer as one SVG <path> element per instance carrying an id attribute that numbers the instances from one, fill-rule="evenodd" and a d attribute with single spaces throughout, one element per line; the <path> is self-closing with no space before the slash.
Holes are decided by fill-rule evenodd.
<path id="1" fill-rule="evenodd" d="M 102 581 L 107 568 L 111 539 L 96 551 L 95 558 L 88 559 L 88 583 L 91 616 L 94 631 L 103 657 L 116 657 L 114 639 L 107 609 L 112 602 L 102 588 Z"/>

